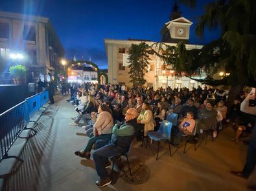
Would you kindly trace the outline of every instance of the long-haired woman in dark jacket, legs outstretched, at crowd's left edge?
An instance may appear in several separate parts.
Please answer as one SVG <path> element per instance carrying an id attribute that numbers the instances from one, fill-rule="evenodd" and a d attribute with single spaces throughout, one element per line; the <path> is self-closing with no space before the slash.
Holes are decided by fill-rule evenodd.
<path id="1" fill-rule="evenodd" d="M 70 123 L 69 125 L 77 126 L 81 118 L 84 119 L 84 126 L 87 125 L 87 119 L 91 119 L 91 112 L 97 112 L 95 97 L 93 95 L 89 95 L 88 103 L 84 107 L 85 108 L 79 112 L 74 123 Z"/>

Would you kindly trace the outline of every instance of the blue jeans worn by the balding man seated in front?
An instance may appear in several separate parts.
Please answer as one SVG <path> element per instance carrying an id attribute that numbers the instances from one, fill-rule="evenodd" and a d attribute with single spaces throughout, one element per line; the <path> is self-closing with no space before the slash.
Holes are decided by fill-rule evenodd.
<path id="1" fill-rule="evenodd" d="M 121 154 L 124 154 L 125 152 L 126 150 L 124 150 L 124 148 L 114 145 L 113 143 L 110 143 L 103 146 L 102 148 L 95 150 L 95 152 L 93 153 L 93 161 L 95 163 L 97 174 L 99 175 L 100 179 L 108 178 L 108 172 L 106 171 L 104 166 L 106 161 L 108 161 L 108 158 L 119 156 Z"/>

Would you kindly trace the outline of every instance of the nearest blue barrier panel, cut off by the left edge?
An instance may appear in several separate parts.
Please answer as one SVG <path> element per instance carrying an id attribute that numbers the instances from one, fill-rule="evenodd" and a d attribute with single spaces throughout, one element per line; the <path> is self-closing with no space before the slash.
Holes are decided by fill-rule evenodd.
<path id="1" fill-rule="evenodd" d="M 0 162 L 7 157 L 8 150 L 29 123 L 28 111 L 27 101 L 23 101 L 0 114 Z"/>

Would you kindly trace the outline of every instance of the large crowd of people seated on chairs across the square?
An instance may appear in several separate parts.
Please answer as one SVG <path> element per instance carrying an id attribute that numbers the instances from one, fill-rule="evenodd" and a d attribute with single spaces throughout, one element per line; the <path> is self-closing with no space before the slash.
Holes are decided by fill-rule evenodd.
<path id="1" fill-rule="evenodd" d="M 109 150 L 116 144 L 116 139 L 130 137 L 124 145 L 122 143 L 119 145 L 123 146 L 123 152 L 127 151 L 132 134 L 137 137 L 137 141 L 140 141 L 147 136 L 148 132 L 158 130 L 161 121 L 167 119 L 167 116 L 172 113 L 178 114 L 178 124 L 172 128 L 174 137 L 172 137 L 171 144 L 173 145 L 180 143 L 181 136 L 192 134 L 195 120 L 198 123 L 196 129 L 198 134 L 211 128 L 214 137 L 217 136 L 217 131 L 223 125 L 222 123 L 231 122 L 236 131 L 234 133 L 236 142 L 242 132 L 250 131 L 253 126 L 253 121 L 244 121 L 248 117 L 240 117 L 242 113 L 240 112 L 240 101 L 244 97 L 242 94 L 235 99 L 233 105 L 227 108 L 225 92 L 206 86 L 204 89 L 198 86 L 192 90 L 170 87 L 167 90 L 163 88 L 153 90 L 153 88 L 128 88 L 124 85 L 86 83 L 71 85 L 71 88 L 73 92 L 68 101 L 75 105 L 78 115 L 72 118 L 74 121 L 70 125 L 78 126 L 80 120 L 83 119 L 82 128 L 86 129 L 86 134 L 89 136 L 85 148 L 76 151 L 75 154 L 89 159 L 93 145 L 102 141 L 103 147 L 96 146 L 100 151 L 93 155 L 95 165 L 101 163 L 103 158 L 105 160 L 106 156 L 111 155 L 112 152 Z M 132 122 L 130 123 L 129 120 Z M 112 145 L 109 145 L 108 143 L 111 141 Z M 104 145 L 108 145 L 106 146 L 107 151 L 104 151 Z M 108 153 L 106 156 L 101 156 L 106 152 Z M 106 172 L 102 170 L 102 167 L 96 166 L 96 168 L 100 176 L 97 185 L 108 184 L 110 180 L 106 177 Z"/>

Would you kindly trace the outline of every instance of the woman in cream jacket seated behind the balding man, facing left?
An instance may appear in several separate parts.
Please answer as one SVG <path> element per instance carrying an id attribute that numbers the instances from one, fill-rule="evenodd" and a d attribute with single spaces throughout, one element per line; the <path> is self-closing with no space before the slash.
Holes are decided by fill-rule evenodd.
<path id="1" fill-rule="evenodd" d="M 142 111 L 141 114 L 139 114 L 139 117 L 137 117 L 137 123 L 141 124 L 139 125 L 137 135 L 141 136 L 141 130 L 144 130 L 144 136 L 146 137 L 149 131 L 154 130 L 154 120 L 153 120 L 153 114 L 150 110 L 150 104 L 145 102 L 142 105 Z"/>

